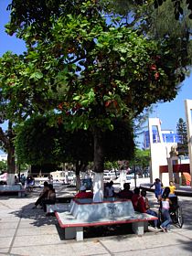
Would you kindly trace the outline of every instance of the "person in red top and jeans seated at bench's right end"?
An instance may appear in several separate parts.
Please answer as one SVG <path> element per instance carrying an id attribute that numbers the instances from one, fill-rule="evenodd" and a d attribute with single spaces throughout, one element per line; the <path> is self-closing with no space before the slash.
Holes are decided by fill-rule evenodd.
<path id="1" fill-rule="evenodd" d="M 155 213 L 155 211 L 150 209 L 149 200 L 146 197 L 146 191 L 144 189 L 141 191 L 141 197 L 139 197 L 138 199 L 137 210 L 141 213 L 147 213 L 157 217 L 157 214 Z M 157 228 L 157 219 L 155 219 L 154 222 L 155 222 L 155 228 Z"/>

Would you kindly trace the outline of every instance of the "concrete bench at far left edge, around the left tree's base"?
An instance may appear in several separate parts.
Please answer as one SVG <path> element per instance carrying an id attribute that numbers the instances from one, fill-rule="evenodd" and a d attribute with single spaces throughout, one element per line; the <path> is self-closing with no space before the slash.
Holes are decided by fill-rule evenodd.
<path id="1" fill-rule="evenodd" d="M 26 191 L 20 184 L 0 185 L 0 195 L 17 194 L 18 197 L 25 197 Z"/>

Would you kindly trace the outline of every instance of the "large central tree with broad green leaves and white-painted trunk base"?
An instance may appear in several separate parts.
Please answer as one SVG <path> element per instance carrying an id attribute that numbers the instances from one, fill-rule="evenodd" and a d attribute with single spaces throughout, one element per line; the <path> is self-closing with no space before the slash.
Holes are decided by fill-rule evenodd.
<path id="1" fill-rule="evenodd" d="M 33 109 L 57 109 L 66 129 L 90 129 L 94 199 L 101 200 L 103 132 L 113 129 L 116 118 L 132 120 L 156 101 L 173 100 L 188 63 L 169 47 L 170 38 L 146 37 L 121 16 L 106 19 L 101 1 L 13 0 L 10 9 L 7 33 L 26 41 L 26 68 L 11 87 L 1 73 L 2 87 L 12 95 L 29 92 Z M 17 104 L 17 112 L 23 108 Z"/>

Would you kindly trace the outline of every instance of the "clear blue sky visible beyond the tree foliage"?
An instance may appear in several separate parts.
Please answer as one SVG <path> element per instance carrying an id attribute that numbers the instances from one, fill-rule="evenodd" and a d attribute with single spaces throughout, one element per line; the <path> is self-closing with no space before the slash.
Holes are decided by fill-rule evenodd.
<path id="1" fill-rule="evenodd" d="M 5 34 L 5 24 L 8 22 L 9 13 L 5 10 L 11 0 L 0 1 L 0 56 L 5 51 L 11 50 L 14 53 L 22 53 L 25 50 L 23 41 L 16 37 L 9 37 Z M 155 112 L 150 117 L 159 117 L 162 121 L 162 129 L 172 129 L 176 132 L 176 123 L 181 117 L 186 121 L 185 105 L 186 99 L 192 99 L 192 74 L 183 83 L 178 91 L 176 99 L 171 102 L 159 103 Z"/>

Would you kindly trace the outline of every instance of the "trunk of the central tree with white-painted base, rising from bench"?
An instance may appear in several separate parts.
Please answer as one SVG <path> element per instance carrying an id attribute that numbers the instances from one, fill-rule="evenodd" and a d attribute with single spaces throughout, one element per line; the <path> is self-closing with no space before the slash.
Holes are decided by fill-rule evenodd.
<path id="1" fill-rule="evenodd" d="M 94 177 L 93 177 L 93 202 L 103 201 L 103 133 L 101 129 L 95 127 L 93 130 L 94 138 Z"/>

